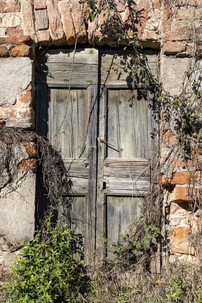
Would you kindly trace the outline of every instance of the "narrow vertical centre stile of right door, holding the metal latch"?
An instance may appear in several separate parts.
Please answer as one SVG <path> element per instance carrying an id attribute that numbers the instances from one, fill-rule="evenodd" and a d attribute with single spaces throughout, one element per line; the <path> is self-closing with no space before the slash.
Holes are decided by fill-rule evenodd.
<path id="1" fill-rule="evenodd" d="M 102 85 L 99 89 L 99 134 L 98 137 L 107 141 L 107 88 Z M 96 258 L 97 262 L 105 257 L 104 245 L 101 240 L 106 237 L 106 195 L 103 192 L 104 160 L 107 145 L 98 141 L 97 157 L 97 214 L 96 214 Z"/>

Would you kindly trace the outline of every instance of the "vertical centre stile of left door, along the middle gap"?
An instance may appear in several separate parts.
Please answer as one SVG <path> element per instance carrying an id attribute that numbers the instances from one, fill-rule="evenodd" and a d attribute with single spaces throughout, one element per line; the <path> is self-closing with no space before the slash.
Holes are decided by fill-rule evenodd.
<path id="1" fill-rule="evenodd" d="M 96 177 L 97 177 L 97 85 L 88 86 L 88 161 L 89 193 L 86 201 L 85 262 L 94 264 L 92 252 L 96 243 Z"/>

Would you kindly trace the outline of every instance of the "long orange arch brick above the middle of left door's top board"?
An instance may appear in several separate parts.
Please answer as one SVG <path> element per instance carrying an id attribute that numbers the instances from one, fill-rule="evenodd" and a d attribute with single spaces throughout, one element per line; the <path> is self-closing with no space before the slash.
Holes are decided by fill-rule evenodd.
<path id="1" fill-rule="evenodd" d="M 67 42 L 69 45 L 73 45 L 76 40 L 76 32 L 73 24 L 69 1 L 66 0 L 59 2 L 59 9 Z"/>

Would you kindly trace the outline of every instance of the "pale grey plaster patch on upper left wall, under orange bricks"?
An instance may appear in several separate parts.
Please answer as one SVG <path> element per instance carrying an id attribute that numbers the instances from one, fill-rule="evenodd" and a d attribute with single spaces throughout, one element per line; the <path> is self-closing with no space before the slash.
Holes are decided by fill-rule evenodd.
<path id="1" fill-rule="evenodd" d="M 32 82 L 32 61 L 29 58 L 2 58 L 0 70 L 0 105 L 15 104 L 16 95 Z"/>

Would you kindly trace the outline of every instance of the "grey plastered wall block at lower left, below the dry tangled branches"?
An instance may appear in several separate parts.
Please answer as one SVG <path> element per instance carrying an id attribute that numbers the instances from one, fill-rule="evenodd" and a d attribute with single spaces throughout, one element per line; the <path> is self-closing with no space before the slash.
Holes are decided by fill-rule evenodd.
<path id="1" fill-rule="evenodd" d="M 18 181 L 1 191 L 0 233 L 12 244 L 33 238 L 35 209 L 35 174 L 22 171 Z M 14 187 L 15 188 L 15 187 Z"/>

